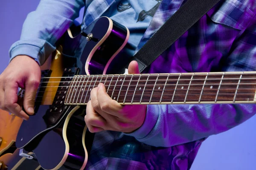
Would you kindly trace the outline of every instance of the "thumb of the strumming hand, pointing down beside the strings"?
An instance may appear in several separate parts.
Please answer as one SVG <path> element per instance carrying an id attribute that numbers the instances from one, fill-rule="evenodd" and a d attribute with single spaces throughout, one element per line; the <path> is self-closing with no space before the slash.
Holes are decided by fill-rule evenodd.
<path id="1" fill-rule="evenodd" d="M 27 80 L 24 94 L 24 109 L 29 115 L 34 114 L 35 97 L 39 86 L 37 79 Z"/>

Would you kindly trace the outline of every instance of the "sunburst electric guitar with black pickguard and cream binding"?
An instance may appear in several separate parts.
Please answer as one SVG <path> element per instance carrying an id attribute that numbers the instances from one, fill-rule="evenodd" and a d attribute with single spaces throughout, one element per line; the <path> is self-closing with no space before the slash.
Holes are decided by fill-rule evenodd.
<path id="1" fill-rule="evenodd" d="M 90 31 L 70 40 L 84 40 L 81 69 L 64 62 L 66 47 L 55 57 L 63 69 L 49 70 L 41 79 L 36 112 L 23 121 L 16 146 L 35 153 L 45 170 L 80 169 L 87 164 L 87 127 L 84 106 L 90 91 L 100 82 L 121 105 L 150 104 L 238 104 L 256 102 L 256 72 L 215 72 L 179 74 L 114 74 L 127 63 L 122 55 L 129 38 L 125 26 L 101 17 Z M 62 55 L 61 55 L 62 54 Z M 118 63 L 118 68 L 114 67 Z M 24 90 L 20 91 L 22 97 Z M 29 132 L 29 134 L 27 134 Z M 86 140 L 85 140 L 86 137 Z M 23 154 L 23 155 L 24 155 Z"/>

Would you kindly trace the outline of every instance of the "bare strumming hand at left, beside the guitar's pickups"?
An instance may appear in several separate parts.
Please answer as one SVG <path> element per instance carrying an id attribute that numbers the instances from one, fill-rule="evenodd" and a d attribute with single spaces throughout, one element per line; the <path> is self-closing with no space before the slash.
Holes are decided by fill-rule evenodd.
<path id="1" fill-rule="evenodd" d="M 9 63 L 0 75 L 0 109 L 13 113 L 23 119 L 34 114 L 35 96 L 41 80 L 41 69 L 38 63 L 28 56 L 17 56 Z M 22 103 L 17 96 L 18 87 L 25 89 Z"/>

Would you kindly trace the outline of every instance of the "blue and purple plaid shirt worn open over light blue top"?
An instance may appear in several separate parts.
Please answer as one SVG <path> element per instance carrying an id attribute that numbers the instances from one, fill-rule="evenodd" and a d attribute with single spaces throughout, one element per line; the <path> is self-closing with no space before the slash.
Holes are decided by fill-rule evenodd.
<path id="1" fill-rule="evenodd" d="M 84 26 L 100 17 L 113 2 L 114 0 L 87 1 Z M 184 2 L 162 1 L 137 51 Z M 158 57 L 148 72 L 256 71 L 255 12 L 254 0 L 221 1 Z M 253 114 L 244 116 L 236 125 L 250 116 Z M 201 138 L 198 136 L 194 141 L 187 139 L 186 144 L 172 147 L 152 147 L 138 142 L 132 136 L 117 132 L 96 133 L 86 169 L 188 170 L 201 143 L 206 139 L 204 137 L 221 131 L 224 129 L 204 134 Z"/>

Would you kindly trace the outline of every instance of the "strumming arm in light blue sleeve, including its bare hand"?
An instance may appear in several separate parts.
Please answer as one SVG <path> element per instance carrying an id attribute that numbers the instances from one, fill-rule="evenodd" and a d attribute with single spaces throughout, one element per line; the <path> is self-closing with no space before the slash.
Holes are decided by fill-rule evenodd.
<path id="1" fill-rule="evenodd" d="M 41 0 L 36 11 L 27 16 L 20 40 L 9 50 L 11 61 L 0 75 L 0 109 L 25 120 L 34 114 L 39 65 L 55 50 L 55 42 L 78 17 L 82 6 L 83 0 Z M 18 87 L 26 90 L 23 106 L 28 114 L 17 97 Z"/>

